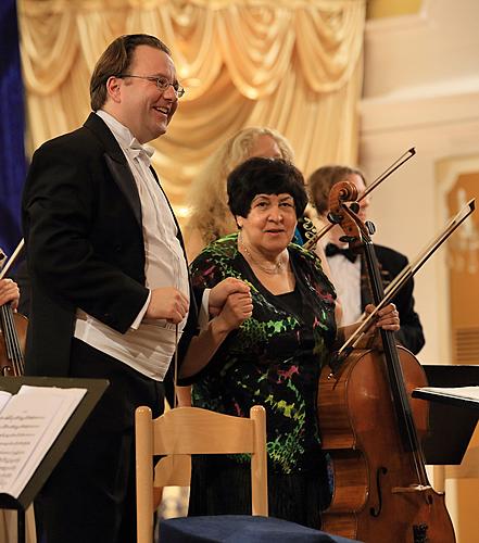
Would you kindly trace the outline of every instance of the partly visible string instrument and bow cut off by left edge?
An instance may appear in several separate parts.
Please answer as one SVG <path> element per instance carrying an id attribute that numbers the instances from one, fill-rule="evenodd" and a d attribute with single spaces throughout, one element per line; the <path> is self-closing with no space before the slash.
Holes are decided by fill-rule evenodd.
<path id="1" fill-rule="evenodd" d="M 3 279 L 23 247 L 23 240 L 0 273 Z M 0 250 L 0 252 L 2 252 Z M 0 305 L 0 375 L 20 377 L 24 374 L 25 339 L 28 321 L 20 313 L 13 312 L 10 302 Z"/>

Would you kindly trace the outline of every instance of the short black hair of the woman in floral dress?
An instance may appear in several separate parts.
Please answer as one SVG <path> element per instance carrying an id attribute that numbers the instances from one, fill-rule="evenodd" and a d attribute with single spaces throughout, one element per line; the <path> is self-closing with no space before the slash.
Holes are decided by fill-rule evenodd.
<path id="1" fill-rule="evenodd" d="M 279 159 L 250 159 L 237 166 L 227 180 L 228 205 L 234 215 L 247 217 L 257 194 L 291 194 L 297 217 L 307 204 L 303 174 L 290 162 Z"/>

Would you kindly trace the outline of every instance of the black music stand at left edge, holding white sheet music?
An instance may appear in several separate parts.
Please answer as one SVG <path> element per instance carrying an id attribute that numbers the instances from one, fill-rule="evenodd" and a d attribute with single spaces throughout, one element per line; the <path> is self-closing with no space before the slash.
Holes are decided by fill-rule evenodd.
<path id="1" fill-rule="evenodd" d="M 18 392 L 22 384 L 31 387 L 56 387 L 61 389 L 87 389 L 77 408 L 66 421 L 56 440 L 40 462 L 30 480 L 17 498 L 0 493 L 1 509 L 17 510 L 17 542 L 25 543 L 25 510 L 50 477 L 70 444 L 87 420 L 93 407 L 109 386 L 106 379 L 72 379 L 60 377 L 0 377 L 0 390 L 12 394 Z"/>

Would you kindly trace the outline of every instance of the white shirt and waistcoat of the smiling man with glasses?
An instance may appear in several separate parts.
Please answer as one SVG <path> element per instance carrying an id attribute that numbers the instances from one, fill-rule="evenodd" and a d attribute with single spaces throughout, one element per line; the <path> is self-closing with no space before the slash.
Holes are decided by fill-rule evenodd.
<path id="1" fill-rule="evenodd" d="M 137 184 L 142 213 L 146 287 L 150 290 L 174 287 L 189 296 L 188 269 L 178 230 L 166 197 L 150 169 L 153 150 L 140 146 L 130 130 L 112 115 L 104 111 L 98 111 L 97 115 L 113 132 Z M 175 325 L 165 319 L 143 318 L 149 301 L 150 296 L 126 333 L 77 310 L 74 336 L 143 375 L 163 380 L 176 350 Z M 178 339 L 185 324 L 186 317 L 178 325 Z"/>

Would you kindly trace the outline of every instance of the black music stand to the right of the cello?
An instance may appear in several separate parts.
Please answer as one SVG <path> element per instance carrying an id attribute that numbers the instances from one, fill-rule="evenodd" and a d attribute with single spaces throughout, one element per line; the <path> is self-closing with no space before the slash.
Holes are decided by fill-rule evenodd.
<path id="1" fill-rule="evenodd" d="M 479 366 L 424 365 L 430 387 L 469 387 L 479 384 Z M 429 432 L 423 442 L 426 464 L 458 465 L 463 462 L 479 412 L 470 402 L 413 391 L 413 397 L 431 400 Z"/>

